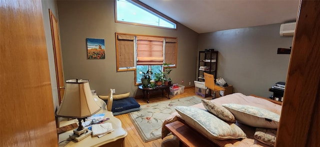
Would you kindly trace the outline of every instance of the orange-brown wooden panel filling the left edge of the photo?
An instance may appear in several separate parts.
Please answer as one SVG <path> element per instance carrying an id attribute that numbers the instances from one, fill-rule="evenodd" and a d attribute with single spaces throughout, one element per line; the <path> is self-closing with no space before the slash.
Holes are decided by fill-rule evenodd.
<path id="1" fill-rule="evenodd" d="M 56 147 L 41 0 L 0 7 L 0 147 Z"/>

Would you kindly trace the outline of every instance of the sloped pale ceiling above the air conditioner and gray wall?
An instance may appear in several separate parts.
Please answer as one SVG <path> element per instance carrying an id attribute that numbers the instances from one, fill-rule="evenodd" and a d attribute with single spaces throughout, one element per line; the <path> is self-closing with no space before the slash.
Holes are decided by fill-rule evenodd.
<path id="1" fill-rule="evenodd" d="M 299 0 L 139 0 L 197 33 L 294 22 Z"/>

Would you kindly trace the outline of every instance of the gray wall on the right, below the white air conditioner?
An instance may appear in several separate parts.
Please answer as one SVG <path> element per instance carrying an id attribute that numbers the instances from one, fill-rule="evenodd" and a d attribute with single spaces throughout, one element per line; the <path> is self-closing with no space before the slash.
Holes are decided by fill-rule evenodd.
<path id="1" fill-rule="evenodd" d="M 269 97 L 275 82 L 286 80 L 292 36 L 279 35 L 280 24 L 199 34 L 198 50 L 219 51 L 217 77 L 233 85 L 233 92 Z"/>

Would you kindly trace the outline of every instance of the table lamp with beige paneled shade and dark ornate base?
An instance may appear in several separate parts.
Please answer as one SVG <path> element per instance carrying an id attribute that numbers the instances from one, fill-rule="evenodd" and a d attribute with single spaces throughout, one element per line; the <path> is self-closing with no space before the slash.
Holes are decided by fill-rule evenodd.
<path id="1" fill-rule="evenodd" d="M 65 92 L 56 117 L 78 119 L 79 126 L 69 135 L 71 139 L 79 142 L 92 134 L 90 130 L 83 127 L 87 117 L 92 116 L 101 110 L 92 97 L 89 80 L 71 79 L 65 81 Z"/>

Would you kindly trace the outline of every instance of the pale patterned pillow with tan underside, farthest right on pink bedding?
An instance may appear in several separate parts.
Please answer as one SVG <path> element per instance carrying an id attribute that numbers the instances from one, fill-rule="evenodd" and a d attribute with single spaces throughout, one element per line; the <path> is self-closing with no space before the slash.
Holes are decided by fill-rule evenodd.
<path id="1" fill-rule="evenodd" d="M 222 104 L 222 106 L 242 124 L 269 129 L 277 129 L 278 127 L 280 115 L 271 111 L 240 104 Z"/>

